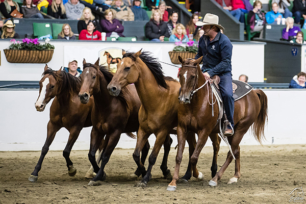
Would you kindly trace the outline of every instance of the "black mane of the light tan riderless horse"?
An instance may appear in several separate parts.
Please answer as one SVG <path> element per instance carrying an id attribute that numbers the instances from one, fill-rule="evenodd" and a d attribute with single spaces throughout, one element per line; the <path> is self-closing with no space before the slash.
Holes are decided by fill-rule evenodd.
<path id="1" fill-rule="evenodd" d="M 122 57 L 129 57 L 136 61 L 135 53 L 125 53 Z M 140 54 L 139 58 L 145 63 L 149 70 L 154 75 L 157 84 L 165 89 L 168 88 L 166 81 L 175 81 L 172 77 L 166 77 L 163 72 L 162 65 L 158 62 L 158 59 L 153 57 L 150 52 L 144 51 Z"/>

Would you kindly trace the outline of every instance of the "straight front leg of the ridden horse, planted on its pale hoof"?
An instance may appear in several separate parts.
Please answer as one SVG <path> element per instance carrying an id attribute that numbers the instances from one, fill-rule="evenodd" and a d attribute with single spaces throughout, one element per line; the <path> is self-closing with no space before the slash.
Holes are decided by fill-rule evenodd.
<path id="1" fill-rule="evenodd" d="M 176 190 L 176 182 L 179 180 L 179 172 L 180 172 L 180 166 L 183 158 L 183 152 L 185 148 L 186 143 L 186 137 L 187 134 L 185 130 L 181 126 L 177 126 L 177 152 L 176 152 L 176 158 L 175 158 L 175 167 L 174 167 L 174 174 L 172 177 L 171 183 L 168 185 L 167 190 L 168 191 L 175 191 Z"/>

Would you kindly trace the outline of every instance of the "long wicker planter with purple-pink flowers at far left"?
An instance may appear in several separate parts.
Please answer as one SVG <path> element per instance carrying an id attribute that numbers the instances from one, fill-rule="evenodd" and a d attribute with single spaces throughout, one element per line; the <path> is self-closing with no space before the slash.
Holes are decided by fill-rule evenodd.
<path id="1" fill-rule="evenodd" d="M 40 44 L 38 39 L 24 38 L 22 42 L 12 39 L 8 49 L 4 49 L 5 57 L 10 63 L 47 63 L 52 59 L 54 45 L 46 39 Z"/>

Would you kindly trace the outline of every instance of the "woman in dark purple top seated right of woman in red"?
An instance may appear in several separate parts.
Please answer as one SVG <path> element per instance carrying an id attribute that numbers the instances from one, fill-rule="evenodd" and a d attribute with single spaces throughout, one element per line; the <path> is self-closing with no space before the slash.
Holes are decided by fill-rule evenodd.
<path id="1" fill-rule="evenodd" d="M 124 37 L 122 34 L 124 31 L 123 25 L 119 20 L 114 18 L 113 10 L 106 10 L 104 17 L 105 19 L 102 19 L 100 23 L 103 31 L 106 32 L 106 37 Z"/>

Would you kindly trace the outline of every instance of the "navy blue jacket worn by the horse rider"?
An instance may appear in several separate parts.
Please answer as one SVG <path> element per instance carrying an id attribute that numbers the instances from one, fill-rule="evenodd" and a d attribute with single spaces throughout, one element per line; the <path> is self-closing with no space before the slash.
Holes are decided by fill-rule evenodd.
<path id="1" fill-rule="evenodd" d="M 232 72 L 233 45 L 226 35 L 218 33 L 208 44 L 209 37 L 203 35 L 199 40 L 198 53 L 195 59 L 203 56 L 202 71 L 214 75 Z"/>

